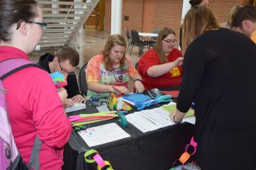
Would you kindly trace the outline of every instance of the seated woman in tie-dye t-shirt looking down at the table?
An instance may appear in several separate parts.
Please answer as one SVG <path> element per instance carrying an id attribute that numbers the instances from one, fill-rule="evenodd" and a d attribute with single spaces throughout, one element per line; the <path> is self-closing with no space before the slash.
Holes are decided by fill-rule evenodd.
<path id="1" fill-rule="evenodd" d="M 107 39 L 104 50 L 90 59 L 86 67 L 87 98 L 106 97 L 113 87 L 128 94 L 129 77 L 134 81 L 136 92 L 142 93 L 142 77 L 130 57 L 126 57 L 126 39 L 114 34 Z"/>

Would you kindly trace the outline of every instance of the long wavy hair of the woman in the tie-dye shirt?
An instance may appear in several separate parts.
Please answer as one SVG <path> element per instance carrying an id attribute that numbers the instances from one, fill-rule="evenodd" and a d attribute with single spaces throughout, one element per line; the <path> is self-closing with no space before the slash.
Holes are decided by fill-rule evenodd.
<path id="1" fill-rule="evenodd" d="M 104 50 L 102 51 L 103 61 L 107 71 L 113 70 L 113 61 L 110 59 L 110 51 L 112 47 L 114 47 L 115 45 L 121 45 L 126 49 L 126 39 L 119 34 L 114 34 L 114 35 L 111 35 L 109 38 L 107 38 Z M 125 64 L 126 64 L 126 53 L 123 53 L 123 56 L 120 61 L 120 67 L 122 71 L 125 69 L 124 68 Z"/>

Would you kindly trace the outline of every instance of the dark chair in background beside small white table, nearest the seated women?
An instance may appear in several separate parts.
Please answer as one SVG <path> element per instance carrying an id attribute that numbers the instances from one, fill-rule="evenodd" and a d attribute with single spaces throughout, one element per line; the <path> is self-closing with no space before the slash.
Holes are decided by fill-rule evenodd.
<path id="1" fill-rule="evenodd" d="M 148 45 L 146 45 L 146 42 L 143 42 L 140 40 L 137 30 L 130 31 L 130 38 L 131 38 L 130 54 L 133 50 L 133 47 L 138 46 L 138 55 L 141 56 L 141 54 L 143 53 L 143 48 L 144 47 L 148 48 Z"/>

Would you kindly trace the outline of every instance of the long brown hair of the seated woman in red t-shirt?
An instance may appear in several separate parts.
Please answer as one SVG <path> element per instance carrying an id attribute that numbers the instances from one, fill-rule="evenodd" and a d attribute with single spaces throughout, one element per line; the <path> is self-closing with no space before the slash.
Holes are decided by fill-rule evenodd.
<path id="1" fill-rule="evenodd" d="M 164 38 L 166 38 L 169 34 L 174 34 L 175 32 L 174 30 L 171 30 L 168 27 L 163 27 L 159 33 L 158 33 L 158 38 L 157 38 L 157 42 L 154 45 L 154 49 L 156 50 L 156 52 L 158 53 L 159 57 L 160 57 L 160 61 L 161 63 L 166 63 L 167 62 L 167 58 L 165 56 L 165 54 L 162 51 L 162 40 Z"/>

